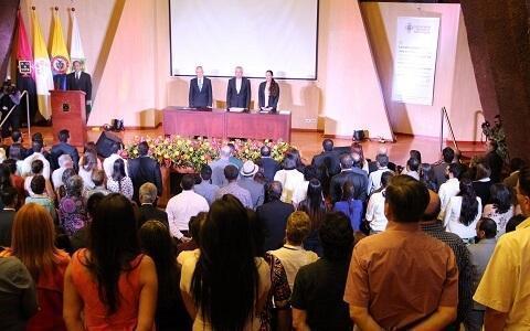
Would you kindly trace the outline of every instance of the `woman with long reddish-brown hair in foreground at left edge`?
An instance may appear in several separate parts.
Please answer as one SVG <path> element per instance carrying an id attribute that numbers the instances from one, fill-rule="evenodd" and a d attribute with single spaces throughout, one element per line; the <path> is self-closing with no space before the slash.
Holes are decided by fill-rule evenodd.
<path id="1" fill-rule="evenodd" d="M 11 247 L 0 253 L 0 256 L 18 257 L 36 284 L 39 311 L 25 330 L 66 330 L 63 284 L 70 256 L 55 247 L 54 235 L 53 221 L 46 210 L 28 203 L 14 217 Z"/>

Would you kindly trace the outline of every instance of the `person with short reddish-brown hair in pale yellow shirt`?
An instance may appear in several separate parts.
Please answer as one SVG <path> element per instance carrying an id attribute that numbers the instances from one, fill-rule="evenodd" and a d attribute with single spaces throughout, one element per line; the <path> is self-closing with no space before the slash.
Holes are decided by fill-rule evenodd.
<path id="1" fill-rule="evenodd" d="M 315 252 L 306 250 L 303 247 L 303 243 L 311 229 L 310 222 L 309 216 L 304 212 L 292 213 L 287 218 L 285 229 L 286 243 L 282 248 L 269 252 L 282 261 L 292 290 L 298 270 L 318 259 Z"/>

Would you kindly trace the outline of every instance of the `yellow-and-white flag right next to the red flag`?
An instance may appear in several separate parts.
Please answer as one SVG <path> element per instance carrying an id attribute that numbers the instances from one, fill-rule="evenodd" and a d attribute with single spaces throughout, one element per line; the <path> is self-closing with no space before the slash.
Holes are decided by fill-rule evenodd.
<path id="1" fill-rule="evenodd" d="M 47 56 L 46 44 L 42 36 L 41 23 L 36 11 L 31 11 L 31 21 L 33 28 L 33 57 L 35 67 L 35 84 L 39 111 L 44 119 L 50 119 L 52 107 L 50 105 L 50 89 L 53 89 L 53 76 L 50 57 Z"/>

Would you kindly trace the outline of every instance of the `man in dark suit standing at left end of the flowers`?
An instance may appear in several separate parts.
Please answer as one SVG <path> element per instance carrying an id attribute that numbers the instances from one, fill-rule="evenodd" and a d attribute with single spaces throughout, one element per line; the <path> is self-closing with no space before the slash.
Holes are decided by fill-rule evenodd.
<path id="1" fill-rule="evenodd" d="M 132 199 L 138 201 L 138 192 L 145 183 L 153 183 L 157 188 L 158 196 L 162 194 L 162 174 L 160 166 L 149 156 L 149 145 L 146 141 L 138 143 L 138 154 L 136 159 L 128 161 L 129 177 L 132 181 L 135 192 Z"/>

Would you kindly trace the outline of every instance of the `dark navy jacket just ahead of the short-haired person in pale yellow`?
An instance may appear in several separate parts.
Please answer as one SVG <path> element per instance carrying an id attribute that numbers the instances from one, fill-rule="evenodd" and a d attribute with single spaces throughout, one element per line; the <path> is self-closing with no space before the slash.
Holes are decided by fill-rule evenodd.
<path id="1" fill-rule="evenodd" d="M 279 200 L 267 202 L 256 209 L 257 221 L 265 235 L 265 252 L 278 249 L 284 245 L 287 217 L 295 207 Z"/>

